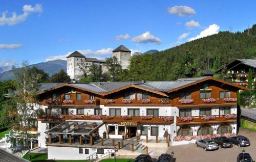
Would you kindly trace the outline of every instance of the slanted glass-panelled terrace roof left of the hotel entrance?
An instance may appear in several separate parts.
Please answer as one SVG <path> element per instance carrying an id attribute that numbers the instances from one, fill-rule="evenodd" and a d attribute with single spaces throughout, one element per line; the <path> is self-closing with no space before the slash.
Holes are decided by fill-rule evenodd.
<path id="1" fill-rule="evenodd" d="M 65 121 L 45 133 L 89 135 L 98 130 L 103 124 L 104 122 Z"/>

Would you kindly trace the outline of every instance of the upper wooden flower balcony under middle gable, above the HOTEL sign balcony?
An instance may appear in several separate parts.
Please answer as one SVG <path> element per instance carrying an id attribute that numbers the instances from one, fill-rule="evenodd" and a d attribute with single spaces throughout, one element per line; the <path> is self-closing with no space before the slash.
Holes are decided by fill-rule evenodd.
<path id="1" fill-rule="evenodd" d="M 172 105 L 172 100 L 168 98 L 159 99 L 105 99 L 105 106 L 170 106 Z"/>

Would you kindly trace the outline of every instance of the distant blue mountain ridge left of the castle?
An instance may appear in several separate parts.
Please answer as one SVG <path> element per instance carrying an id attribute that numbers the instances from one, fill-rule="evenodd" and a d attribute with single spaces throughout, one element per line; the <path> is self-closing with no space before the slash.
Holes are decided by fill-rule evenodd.
<path id="1" fill-rule="evenodd" d="M 42 63 L 38 63 L 38 64 L 32 64 L 32 65 L 29 65 L 28 67 L 37 67 L 38 69 L 44 70 L 46 73 L 49 74 L 49 76 L 52 76 L 53 74 L 59 72 L 60 69 L 67 71 L 67 61 L 54 60 L 54 61 L 48 61 L 45 63 L 42 62 Z M 17 70 L 17 69 L 5 71 L 2 74 L 0 74 L 0 81 L 14 79 L 13 72 L 15 70 Z"/>

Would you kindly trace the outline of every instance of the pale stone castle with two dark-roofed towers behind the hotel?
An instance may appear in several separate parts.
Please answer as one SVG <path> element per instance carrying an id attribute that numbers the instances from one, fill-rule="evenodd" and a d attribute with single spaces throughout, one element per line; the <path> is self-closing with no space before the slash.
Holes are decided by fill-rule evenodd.
<path id="1" fill-rule="evenodd" d="M 129 66 L 131 50 L 129 50 L 123 45 L 120 45 L 112 51 L 112 57 L 113 56 L 115 56 L 121 62 L 122 69 L 126 69 Z M 79 68 L 79 66 L 81 66 L 82 64 L 85 64 L 84 66 L 89 67 L 92 64 L 96 64 L 102 69 L 102 73 L 108 71 L 108 68 L 106 68 L 105 66 L 104 60 L 98 60 L 96 58 L 87 58 L 83 56 L 80 52 L 74 51 L 67 57 L 67 73 L 71 79 L 79 79 L 83 77 L 83 71 Z"/>

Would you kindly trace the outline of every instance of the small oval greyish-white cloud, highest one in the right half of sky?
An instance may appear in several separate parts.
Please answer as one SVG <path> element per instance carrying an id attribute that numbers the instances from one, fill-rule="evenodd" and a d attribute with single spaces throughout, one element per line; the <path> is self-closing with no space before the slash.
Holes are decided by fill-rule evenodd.
<path id="1" fill-rule="evenodd" d="M 168 13 L 176 16 L 194 16 L 196 11 L 188 6 L 174 6 L 172 8 L 168 8 Z"/>

